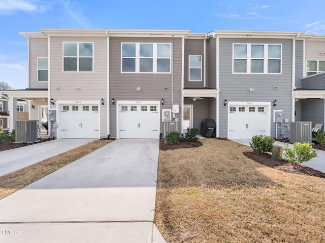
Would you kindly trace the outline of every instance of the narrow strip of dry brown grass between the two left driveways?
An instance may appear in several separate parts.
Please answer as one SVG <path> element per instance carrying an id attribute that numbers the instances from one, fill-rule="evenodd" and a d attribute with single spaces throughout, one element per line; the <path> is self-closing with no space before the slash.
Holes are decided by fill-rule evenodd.
<path id="1" fill-rule="evenodd" d="M 78 148 L 45 159 L 18 171 L 0 177 L 0 199 L 18 191 L 42 177 L 110 143 L 112 140 L 95 140 Z M 30 145 L 32 146 L 32 145 Z"/>

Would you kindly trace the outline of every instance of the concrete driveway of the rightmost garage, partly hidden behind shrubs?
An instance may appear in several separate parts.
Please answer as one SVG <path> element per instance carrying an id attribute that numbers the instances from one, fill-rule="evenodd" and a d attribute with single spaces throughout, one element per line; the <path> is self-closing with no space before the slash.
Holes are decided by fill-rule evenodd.
<path id="1" fill-rule="evenodd" d="M 244 144 L 244 145 L 250 147 L 249 142 L 251 141 L 251 139 L 232 139 L 232 141 L 235 141 L 235 142 L 238 142 L 238 143 L 241 143 L 241 144 Z M 287 144 L 289 147 L 294 146 L 293 144 L 283 143 L 283 142 L 279 142 L 279 141 L 275 141 L 274 144 L 282 146 L 283 148 L 284 148 L 285 144 Z M 318 150 L 318 149 L 315 149 L 315 150 L 317 152 L 317 157 L 310 159 L 308 162 L 305 162 L 302 165 L 325 173 L 325 151 Z M 283 149 L 283 154 L 282 154 L 283 159 L 285 159 L 284 153 L 285 153 L 285 151 Z"/>

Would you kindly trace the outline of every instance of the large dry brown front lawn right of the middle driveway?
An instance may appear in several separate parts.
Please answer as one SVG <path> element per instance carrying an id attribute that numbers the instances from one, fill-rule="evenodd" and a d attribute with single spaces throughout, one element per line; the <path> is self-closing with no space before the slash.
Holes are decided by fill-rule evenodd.
<path id="1" fill-rule="evenodd" d="M 263 166 L 233 141 L 159 152 L 155 224 L 167 242 L 325 242 L 325 179 Z"/>

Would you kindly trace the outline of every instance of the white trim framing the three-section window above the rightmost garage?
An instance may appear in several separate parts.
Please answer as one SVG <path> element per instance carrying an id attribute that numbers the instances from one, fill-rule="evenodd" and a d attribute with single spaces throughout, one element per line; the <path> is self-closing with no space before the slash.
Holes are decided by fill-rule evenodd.
<path id="1" fill-rule="evenodd" d="M 247 46 L 247 56 L 246 58 L 235 58 L 235 52 L 234 52 L 234 48 L 235 45 L 246 45 Z M 251 46 L 252 45 L 263 45 L 264 46 L 264 58 L 252 58 L 251 57 Z M 268 46 L 280 46 L 281 47 L 281 57 L 280 58 L 268 58 L 268 52 L 269 52 L 269 48 Z M 234 72 L 234 60 L 235 59 L 246 59 L 246 72 Z M 251 72 L 251 60 L 264 60 L 263 62 L 263 72 Z M 268 72 L 268 60 L 280 60 L 280 72 L 274 73 Z M 268 43 L 268 44 L 258 44 L 258 43 L 233 43 L 233 59 L 232 59 L 232 72 L 233 74 L 270 74 L 270 75 L 279 75 L 282 74 L 282 44 L 277 44 L 277 43 Z"/>

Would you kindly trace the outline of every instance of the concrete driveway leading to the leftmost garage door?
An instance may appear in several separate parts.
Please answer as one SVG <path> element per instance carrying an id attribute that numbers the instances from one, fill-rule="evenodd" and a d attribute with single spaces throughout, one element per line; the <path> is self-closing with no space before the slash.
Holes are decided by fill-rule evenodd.
<path id="1" fill-rule="evenodd" d="M 0 152 L 0 176 L 39 163 L 96 139 L 56 139 Z"/>

